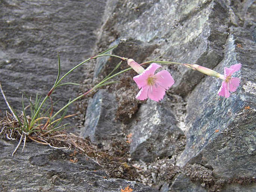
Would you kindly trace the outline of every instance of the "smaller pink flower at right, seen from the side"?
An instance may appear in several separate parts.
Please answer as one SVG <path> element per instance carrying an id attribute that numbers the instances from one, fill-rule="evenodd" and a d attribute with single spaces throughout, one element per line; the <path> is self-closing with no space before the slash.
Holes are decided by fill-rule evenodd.
<path id="1" fill-rule="evenodd" d="M 221 87 L 218 91 L 219 96 L 228 98 L 230 96 L 229 92 L 235 92 L 237 90 L 237 87 L 240 84 L 240 78 L 231 77 L 231 75 L 234 72 L 239 71 L 240 68 L 241 64 L 232 65 L 230 68 L 224 67 L 224 75 L 222 77 L 224 81 L 222 81 Z"/>

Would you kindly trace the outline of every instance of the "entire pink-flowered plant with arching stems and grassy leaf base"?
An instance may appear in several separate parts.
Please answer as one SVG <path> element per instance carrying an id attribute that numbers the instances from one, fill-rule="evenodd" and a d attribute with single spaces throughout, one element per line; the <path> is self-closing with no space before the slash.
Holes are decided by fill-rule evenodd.
<path id="1" fill-rule="evenodd" d="M 178 64 L 178 65 L 183 65 L 185 67 L 188 67 L 190 69 L 202 72 L 206 75 L 210 75 L 216 78 L 220 78 L 223 80 L 222 85 L 218 91 L 219 96 L 223 96 L 225 98 L 228 98 L 230 96 L 230 92 L 235 92 L 237 90 L 237 87 L 240 84 L 240 78 L 238 77 L 231 77 L 231 75 L 234 72 L 237 72 L 241 68 L 241 64 L 236 64 L 232 65 L 230 68 L 224 68 L 224 75 L 219 74 L 218 72 L 197 65 L 197 64 L 182 64 L 182 63 L 177 63 L 177 62 L 169 62 L 169 61 L 148 61 L 144 62 L 143 64 L 138 64 L 135 62 L 133 59 L 128 59 L 122 56 L 117 56 L 117 55 L 112 55 L 109 54 L 113 49 L 115 49 L 117 46 L 113 46 L 110 49 L 105 50 L 102 53 L 99 53 L 96 56 L 90 57 L 86 59 L 85 61 L 81 62 L 80 64 L 77 64 L 75 67 L 70 69 L 66 74 L 64 74 L 62 77 L 60 77 L 60 71 L 61 71 L 61 64 L 60 64 L 60 58 L 58 55 L 58 64 L 59 64 L 59 70 L 58 70 L 58 75 L 56 78 L 55 83 L 53 84 L 52 89 L 46 94 L 44 99 L 41 99 L 41 97 L 36 96 L 36 101 L 33 103 L 31 99 L 26 96 L 30 102 L 30 108 L 31 108 L 31 113 L 30 115 L 27 115 L 27 107 L 24 106 L 23 102 L 23 96 L 22 96 L 22 113 L 18 114 L 15 112 L 15 110 L 9 105 L 7 102 L 7 99 L 3 93 L 3 90 L 1 89 L 1 84 L 0 84 L 0 89 L 1 93 L 4 97 L 4 100 L 6 101 L 7 106 L 9 107 L 10 111 L 12 112 L 10 115 L 13 116 L 13 119 L 17 122 L 14 123 L 15 126 L 10 126 L 8 127 L 12 130 L 10 132 L 10 135 L 8 138 L 12 138 L 11 135 L 16 131 L 20 135 L 20 140 L 19 144 L 20 145 L 21 141 L 24 140 L 24 146 L 25 146 L 25 141 L 28 138 L 30 138 L 33 141 L 39 142 L 37 139 L 40 139 L 39 143 L 43 143 L 45 145 L 50 145 L 49 143 L 45 142 L 44 139 L 42 139 L 44 136 L 47 136 L 54 131 L 60 130 L 62 126 L 59 125 L 59 123 L 67 117 L 72 117 L 73 115 L 65 115 L 67 112 L 67 108 L 69 105 L 71 105 L 73 102 L 77 101 L 81 97 L 86 96 L 88 93 L 92 92 L 95 89 L 98 89 L 99 87 L 112 84 L 112 83 L 121 83 L 120 81 L 110 81 L 112 78 L 116 77 L 117 75 L 120 75 L 130 69 L 134 69 L 138 75 L 133 77 L 133 80 L 139 87 L 139 92 L 136 95 L 136 98 L 139 100 L 146 100 L 146 99 L 152 99 L 154 101 L 160 101 L 163 99 L 164 95 L 166 94 L 166 90 L 168 90 L 170 87 L 173 86 L 175 83 L 172 75 L 166 71 L 162 70 L 157 73 L 156 70 L 161 68 L 161 65 L 158 64 Z M 57 112 L 54 112 L 53 110 L 53 102 L 52 102 L 52 93 L 56 91 L 56 89 L 59 86 L 65 86 L 67 84 L 71 85 L 79 85 L 77 83 L 72 83 L 72 82 L 66 82 L 66 83 L 61 83 L 64 78 L 73 72 L 75 69 L 77 69 L 79 66 L 85 64 L 86 62 L 96 59 L 99 57 L 104 57 L 104 56 L 111 56 L 115 57 L 118 59 L 121 59 L 121 62 L 119 62 L 115 68 L 110 72 L 110 74 L 107 75 L 100 83 L 96 84 L 94 87 L 91 89 L 87 90 L 80 96 L 74 98 L 73 100 L 70 100 L 66 105 L 64 105 L 61 109 L 59 109 Z M 124 69 L 123 71 L 120 72 L 115 72 L 117 68 L 121 65 L 122 61 L 126 61 L 127 64 L 130 66 L 130 68 Z M 158 63 L 158 64 L 157 64 Z M 150 64 L 146 69 L 142 67 L 142 65 L 145 64 Z M 46 101 L 50 99 L 50 108 L 48 110 L 45 110 L 46 106 Z M 62 115 L 60 118 L 58 118 L 58 115 L 60 115 L 62 112 Z M 9 119 L 9 118 L 8 118 Z M 43 123 L 44 121 L 44 123 Z M 13 122 L 13 121 L 10 121 Z M 14 125 L 13 124 L 13 125 Z M 65 126 L 65 125 L 64 125 Z M 1 130 L 0 134 L 3 132 Z M 43 142 L 42 142 L 43 141 Z M 18 148 L 16 147 L 16 149 Z M 16 151 L 15 149 L 15 151 Z M 15 152 L 14 151 L 14 152 Z M 13 152 L 13 154 L 14 154 Z"/>

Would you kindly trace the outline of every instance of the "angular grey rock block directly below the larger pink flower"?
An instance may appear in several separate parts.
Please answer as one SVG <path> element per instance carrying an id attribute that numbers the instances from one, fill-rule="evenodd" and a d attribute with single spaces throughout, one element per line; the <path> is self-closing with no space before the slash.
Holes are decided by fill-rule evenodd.
<path id="1" fill-rule="evenodd" d="M 182 151 L 185 136 L 176 126 L 176 119 L 168 105 L 148 100 L 142 104 L 130 127 L 130 153 L 134 160 L 152 162 L 155 158 L 172 157 Z"/>

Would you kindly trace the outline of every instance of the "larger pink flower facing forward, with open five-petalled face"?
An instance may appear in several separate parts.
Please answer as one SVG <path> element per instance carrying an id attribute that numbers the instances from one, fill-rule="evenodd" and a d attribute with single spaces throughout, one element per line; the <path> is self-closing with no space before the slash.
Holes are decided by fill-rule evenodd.
<path id="1" fill-rule="evenodd" d="M 174 84 L 174 80 L 166 70 L 155 74 L 155 70 L 160 67 L 160 65 L 152 63 L 141 74 L 133 77 L 133 80 L 141 89 L 136 95 L 136 99 L 145 100 L 149 98 L 155 101 L 163 99 L 166 90 Z"/>

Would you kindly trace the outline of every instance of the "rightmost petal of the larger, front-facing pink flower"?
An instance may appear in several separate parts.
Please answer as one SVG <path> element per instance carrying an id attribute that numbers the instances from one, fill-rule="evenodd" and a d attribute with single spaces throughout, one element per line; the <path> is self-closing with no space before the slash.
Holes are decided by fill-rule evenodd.
<path id="1" fill-rule="evenodd" d="M 156 77 L 157 84 L 164 89 L 169 89 L 174 84 L 172 75 L 166 70 L 160 71 L 154 76 Z"/>

